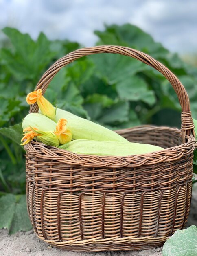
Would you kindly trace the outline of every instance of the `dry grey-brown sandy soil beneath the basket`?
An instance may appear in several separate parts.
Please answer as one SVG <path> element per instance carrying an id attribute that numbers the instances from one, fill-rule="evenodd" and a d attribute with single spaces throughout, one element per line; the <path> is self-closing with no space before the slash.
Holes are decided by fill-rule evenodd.
<path id="1" fill-rule="evenodd" d="M 197 225 L 197 184 L 193 187 L 192 202 L 187 227 Z M 161 247 L 145 251 L 117 252 L 69 252 L 50 247 L 33 230 L 18 232 L 9 236 L 7 230 L 0 229 L 0 256 L 162 256 Z"/>

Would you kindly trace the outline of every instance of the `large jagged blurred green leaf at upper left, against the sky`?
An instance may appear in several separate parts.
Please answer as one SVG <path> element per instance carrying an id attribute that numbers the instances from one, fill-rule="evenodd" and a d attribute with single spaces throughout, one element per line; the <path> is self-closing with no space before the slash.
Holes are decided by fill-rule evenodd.
<path id="1" fill-rule="evenodd" d="M 55 56 L 55 53 L 50 51 L 50 41 L 43 33 L 39 34 L 35 42 L 28 34 L 22 34 L 17 29 L 6 27 L 3 31 L 13 45 L 13 50 L 4 48 L 1 51 L 10 72 L 19 81 L 37 80 Z"/>

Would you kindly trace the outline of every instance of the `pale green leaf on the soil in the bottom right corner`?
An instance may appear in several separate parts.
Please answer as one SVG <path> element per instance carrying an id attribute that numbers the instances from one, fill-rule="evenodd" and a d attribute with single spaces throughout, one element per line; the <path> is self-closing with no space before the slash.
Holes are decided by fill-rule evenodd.
<path id="1" fill-rule="evenodd" d="M 196 256 L 197 255 L 197 227 L 192 225 L 188 229 L 177 230 L 165 243 L 163 256 Z"/>

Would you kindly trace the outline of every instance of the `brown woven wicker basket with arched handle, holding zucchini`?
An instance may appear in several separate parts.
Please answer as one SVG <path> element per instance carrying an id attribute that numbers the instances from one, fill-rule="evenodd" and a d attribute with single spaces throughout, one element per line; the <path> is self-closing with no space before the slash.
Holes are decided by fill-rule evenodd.
<path id="1" fill-rule="evenodd" d="M 72 251 L 132 250 L 160 246 L 188 218 L 196 147 L 188 95 L 170 70 L 128 47 L 98 46 L 54 63 L 35 90 L 46 91 L 72 61 L 96 53 L 136 58 L 160 71 L 182 106 L 182 129 L 139 126 L 117 131 L 129 141 L 166 148 L 128 157 L 79 155 L 32 142 L 26 145 L 28 213 L 37 236 Z M 37 112 L 37 104 L 30 112 Z"/>

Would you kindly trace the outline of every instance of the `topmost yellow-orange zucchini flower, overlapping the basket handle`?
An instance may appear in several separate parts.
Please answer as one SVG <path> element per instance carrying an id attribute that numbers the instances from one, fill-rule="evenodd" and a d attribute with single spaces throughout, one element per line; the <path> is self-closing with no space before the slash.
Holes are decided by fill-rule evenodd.
<path id="1" fill-rule="evenodd" d="M 42 114 L 55 121 L 56 110 L 53 105 L 44 98 L 42 95 L 42 89 L 38 89 L 37 91 L 27 94 L 26 101 L 29 105 L 37 102 L 37 105 L 39 106 Z"/>

